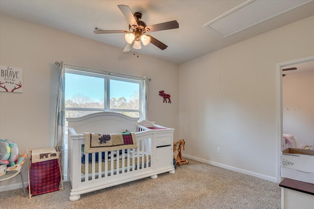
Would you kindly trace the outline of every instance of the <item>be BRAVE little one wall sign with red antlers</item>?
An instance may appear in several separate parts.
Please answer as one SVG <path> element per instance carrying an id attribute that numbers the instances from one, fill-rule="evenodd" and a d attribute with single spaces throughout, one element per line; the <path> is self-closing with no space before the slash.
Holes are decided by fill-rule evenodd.
<path id="1" fill-rule="evenodd" d="M 23 68 L 0 65 L 0 91 L 22 93 Z"/>

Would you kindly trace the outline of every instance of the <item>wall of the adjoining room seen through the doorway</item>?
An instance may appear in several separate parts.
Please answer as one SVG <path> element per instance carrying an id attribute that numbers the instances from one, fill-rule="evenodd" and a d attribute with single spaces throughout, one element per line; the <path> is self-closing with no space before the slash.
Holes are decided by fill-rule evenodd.
<path id="1" fill-rule="evenodd" d="M 283 78 L 283 132 L 303 146 L 314 143 L 314 69 Z"/>

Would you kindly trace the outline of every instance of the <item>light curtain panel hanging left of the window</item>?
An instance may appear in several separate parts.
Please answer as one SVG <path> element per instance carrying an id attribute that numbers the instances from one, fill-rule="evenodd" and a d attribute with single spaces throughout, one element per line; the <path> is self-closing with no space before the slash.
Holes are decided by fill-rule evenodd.
<path id="1" fill-rule="evenodd" d="M 64 84 L 65 84 L 65 69 L 63 62 L 60 63 L 59 79 L 58 79 L 58 96 L 55 113 L 55 130 L 53 146 L 58 146 L 59 151 L 64 151 L 64 134 L 65 134 L 65 107 L 64 107 Z"/>

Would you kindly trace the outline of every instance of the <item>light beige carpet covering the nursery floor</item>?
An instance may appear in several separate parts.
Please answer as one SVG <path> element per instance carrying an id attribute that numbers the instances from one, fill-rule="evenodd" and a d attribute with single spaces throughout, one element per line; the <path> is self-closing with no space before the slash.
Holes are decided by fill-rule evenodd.
<path id="1" fill-rule="evenodd" d="M 28 191 L 26 191 L 28 192 Z M 23 189 L 0 192 L 4 209 L 280 209 L 278 183 L 240 174 L 196 160 L 177 166 L 175 174 L 159 174 L 82 194 L 69 200 L 64 191 L 24 196 Z M 28 194 L 28 193 L 27 193 Z"/>

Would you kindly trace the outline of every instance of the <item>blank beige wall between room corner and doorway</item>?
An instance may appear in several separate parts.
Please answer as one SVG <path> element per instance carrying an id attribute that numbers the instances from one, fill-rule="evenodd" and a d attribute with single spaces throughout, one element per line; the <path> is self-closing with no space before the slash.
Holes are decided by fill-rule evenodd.
<path id="1" fill-rule="evenodd" d="M 314 16 L 180 65 L 187 157 L 277 181 L 276 63 L 313 55 L 313 26 Z"/>

